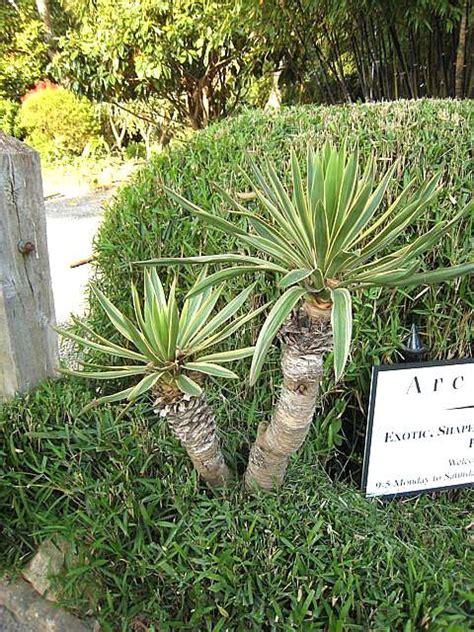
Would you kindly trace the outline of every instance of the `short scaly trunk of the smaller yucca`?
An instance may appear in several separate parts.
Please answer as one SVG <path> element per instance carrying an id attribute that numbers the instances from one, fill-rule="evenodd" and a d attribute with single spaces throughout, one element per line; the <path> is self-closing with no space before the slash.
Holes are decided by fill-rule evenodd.
<path id="1" fill-rule="evenodd" d="M 166 418 L 199 476 L 212 487 L 224 485 L 231 479 L 231 472 L 224 461 L 216 421 L 205 395 L 183 395 L 171 404 L 162 400 L 162 397 L 156 399 L 155 412 Z"/>

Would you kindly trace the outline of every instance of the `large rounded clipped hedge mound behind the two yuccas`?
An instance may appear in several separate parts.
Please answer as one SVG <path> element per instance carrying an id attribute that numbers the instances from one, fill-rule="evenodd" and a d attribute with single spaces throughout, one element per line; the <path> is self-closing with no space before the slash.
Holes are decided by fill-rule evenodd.
<path id="1" fill-rule="evenodd" d="M 96 243 L 102 289 L 117 306 L 126 309 L 130 261 L 237 251 L 232 237 L 171 203 L 162 184 L 175 188 L 206 209 L 221 213 L 227 207 L 212 183 L 224 187 L 234 197 L 246 191 L 247 183 L 241 171 L 245 168 L 245 152 L 252 152 L 257 163 L 263 156 L 269 157 L 279 173 L 288 178 L 288 165 L 284 160 L 289 156 L 290 146 L 304 156 L 308 139 L 321 146 L 328 139 L 337 143 L 347 135 L 350 142 L 358 142 L 362 159 L 375 153 L 380 172 L 398 158 L 400 164 L 395 174 L 398 178 L 394 178 L 389 199 L 412 178 L 415 178 L 415 186 L 419 186 L 441 170 L 442 194 L 411 229 L 415 233 L 418 229 L 426 231 L 436 221 L 452 217 L 470 195 L 472 110 L 472 102 L 449 100 L 307 106 L 283 109 L 273 116 L 249 111 L 214 125 L 188 144 L 156 156 L 133 183 L 122 190 L 106 215 Z M 252 203 L 248 203 L 248 207 L 251 209 Z M 469 223 L 466 219 L 425 256 L 427 267 L 465 261 L 470 248 Z M 195 270 L 187 266 L 182 272 L 191 283 Z M 140 270 L 132 268 L 132 274 L 138 281 Z M 228 300 L 243 285 L 245 280 L 229 285 L 223 300 Z M 271 298 L 271 284 L 262 280 L 259 290 L 259 300 Z M 326 396 L 313 445 L 320 450 L 331 450 L 334 444 L 341 444 L 345 452 L 353 453 L 353 465 L 358 471 L 370 367 L 399 359 L 400 338 L 408 333 L 412 321 L 419 325 L 433 359 L 469 353 L 471 300 L 467 278 L 431 289 L 368 290 L 356 297 L 352 363 L 344 384 L 336 389 L 330 371 L 331 358 L 328 358 L 328 377 L 323 389 Z M 91 318 L 96 321 L 95 327 L 110 333 L 107 323 L 97 322 L 100 316 L 94 303 Z M 254 330 L 247 336 L 247 342 L 255 342 Z M 273 380 L 271 365 L 256 391 L 266 389 L 269 380 Z M 236 392 L 234 396 L 240 395 Z M 238 423 L 235 418 L 234 422 Z M 245 421 L 243 423 L 245 427 Z"/>

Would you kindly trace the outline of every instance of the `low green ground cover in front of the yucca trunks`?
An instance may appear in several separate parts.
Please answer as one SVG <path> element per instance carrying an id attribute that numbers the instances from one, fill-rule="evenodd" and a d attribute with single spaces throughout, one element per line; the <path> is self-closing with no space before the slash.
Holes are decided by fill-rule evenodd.
<path id="1" fill-rule="evenodd" d="M 236 416 L 225 395 L 221 421 Z M 365 500 L 318 464 L 315 429 L 281 493 L 237 482 L 213 495 L 146 405 L 119 423 L 78 417 L 90 397 L 57 383 L 4 408 L 0 546 L 9 567 L 43 538 L 70 540 L 64 603 L 106 630 L 136 617 L 156 630 L 468 629 L 468 491 Z M 253 428 L 263 403 L 239 418 Z M 221 426 L 241 468 L 248 436 Z"/>

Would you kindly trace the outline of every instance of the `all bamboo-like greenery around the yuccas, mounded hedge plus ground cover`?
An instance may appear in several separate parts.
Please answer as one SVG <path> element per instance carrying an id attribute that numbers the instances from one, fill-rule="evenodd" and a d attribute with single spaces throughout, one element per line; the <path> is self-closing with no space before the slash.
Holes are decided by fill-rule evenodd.
<path id="1" fill-rule="evenodd" d="M 170 203 L 161 185 L 221 211 L 210 183 L 244 192 L 245 151 L 269 155 L 283 173 L 282 156 L 308 139 L 358 138 L 381 169 L 399 157 L 400 183 L 441 169 L 439 202 L 418 224 L 431 226 L 470 195 L 472 112 L 468 101 L 304 107 L 213 126 L 157 157 L 118 195 L 96 243 L 97 281 L 130 311 L 130 276 L 140 275 L 131 261 L 232 248 L 229 237 Z M 426 257 L 427 267 L 465 261 L 470 235 L 466 220 Z M 187 282 L 192 275 L 184 270 Z M 271 292 L 263 279 L 259 289 L 256 303 Z M 274 495 L 249 497 L 239 483 L 213 495 L 148 402 L 118 420 L 113 407 L 79 415 L 95 389 L 68 380 L 4 405 L 2 566 L 19 567 L 45 537 L 68 538 L 75 557 L 60 581 L 62 599 L 81 613 L 92 608 L 106 630 L 140 622 L 151 630 L 467 630 L 469 492 L 382 503 L 365 500 L 358 484 L 370 367 L 397 361 L 412 320 L 432 358 L 468 355 L 471 310 L 468 279 L 359 296 L 345 380 L 333 384 L 328 357 L 318 419 Z M 90 320 L 112 334 L 93 301 Z M 239 343 L 255 333 L 256 325 Z M 275 349 L 255 388 L 245 380 L 210 385 L 228 462 L 240 472 L 271 410 L 277 359 Z M 248 363 L 237 370 L 245 375 Z"/>

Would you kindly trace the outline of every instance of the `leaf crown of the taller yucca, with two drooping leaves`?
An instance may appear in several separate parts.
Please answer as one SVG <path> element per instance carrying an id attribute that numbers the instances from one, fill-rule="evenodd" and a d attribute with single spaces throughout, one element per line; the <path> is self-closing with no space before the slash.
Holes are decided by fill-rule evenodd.
<path id="1" fill-rule="evenodd" d="M 374 159 L 361 171 L 358 152 L 348 152 L 346 144 L 340 149 L 326 144 L 320 152 L 308 146 L 305 175 L 292 152 L 289 188 L 270 162 L 261 168 L 249 159 L 249 167 L 247 178 L 258 210 L 249 211 L 217 187 L 230 206 L 231 220 L 235 216 L 245 219 L 247 228 L 245 222 L 224 219 L 197 207 L 176 191 L 166 191 L 190 213 L 234 235 L 258 256 L 222 254 L 139 263 L 230 264 L 198 282 L 193 292 L 247 272 L 280 275 L 278 287 L 284 293 L 270 311 L 257 340 L 251 382 L 255 382 L 279 326 L 301 299 L 332 304 L 334 366 L 339 379 L 350 350 L 351 290 L 439 283 L 474 270 L 471 261 L 451 268 L 420 271 L 420 256 L 473 208 L 471 201 L 450 220 L 438 222 L 410 242 L 406 229 L 435 200 L 441 188 L 439 175 L 427 179 L 419 188 L 410 182 L 387 204 L 385 194 L 397 163 L 378 179 Z M 382 204 L 384 208 L 380 211 Z"/>

